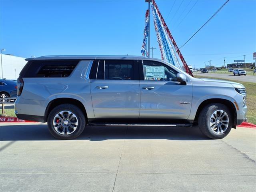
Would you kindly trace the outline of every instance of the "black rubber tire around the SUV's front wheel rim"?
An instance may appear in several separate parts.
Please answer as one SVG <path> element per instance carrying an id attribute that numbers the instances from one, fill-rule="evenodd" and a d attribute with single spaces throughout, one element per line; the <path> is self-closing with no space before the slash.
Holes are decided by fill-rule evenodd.
<path id="1" fill-rule="evenodd" d="M 228 128 L 223 132 L 223 133 L 215 133 L 211 127 L 210 127 L 210 117 L 213 114 L 214 111 L 216 110 L 223 110 L 224 112 L 226 112 L 226 114 L 228 115 L 229 118 L 229 124 L 228 124 Z M 204 134 L 206 137 L 208 138 L 212 138 L 212 139 L 222 139 L 224 137 L 226 137 L 228 135 L 228 133 L 230 132 L 232 126 L 233 126 L 233 116 L 230 113 L 230 110 L 228 109 L 227 106 L 225 106 L 224 104 L 220 104 L 220 103 L 212 103 L 212 104 L 208 104 L 207 106 L 205 106 L 202 111 L 199 114 L 198 117 L 198 127 L 200 129 L 200 131 L 202 132 L 202 134 Z"/>

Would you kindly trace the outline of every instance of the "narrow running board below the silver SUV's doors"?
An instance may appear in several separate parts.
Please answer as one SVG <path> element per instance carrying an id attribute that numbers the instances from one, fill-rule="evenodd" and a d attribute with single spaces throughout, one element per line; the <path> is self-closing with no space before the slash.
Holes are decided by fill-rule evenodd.
<path id="1" fill-rule="evenodd" d="M 192 127 L 193 124 L 118 124 L 118 123 L 89 123 L 90 126 L 161 126 L 161 127 Z"/>

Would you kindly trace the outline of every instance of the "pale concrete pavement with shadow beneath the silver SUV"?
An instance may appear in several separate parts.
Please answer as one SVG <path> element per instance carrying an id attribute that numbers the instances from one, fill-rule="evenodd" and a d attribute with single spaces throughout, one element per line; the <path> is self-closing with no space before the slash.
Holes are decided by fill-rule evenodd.
<path id="1" fill-rule="evenodd" d="M 222 140 L 197 127 L 88 127 L 55 140 L 45 124 L 1 124 L 0 191 L 256 191 L 256 129 Z"/>

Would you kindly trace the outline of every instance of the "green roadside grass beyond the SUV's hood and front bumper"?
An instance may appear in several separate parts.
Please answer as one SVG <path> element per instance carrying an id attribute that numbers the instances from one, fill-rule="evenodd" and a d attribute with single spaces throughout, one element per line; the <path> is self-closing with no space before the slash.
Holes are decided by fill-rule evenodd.
<path id="1" fill-rule="evenodd" d="M 199 75 L 195 75 L 195 77 L 205 78 L 204 76 L 199 76 Z M 229 79 L 224 79 L 224 78 L 214 78 L 214 77 L 210 77 L 210 78 L 230 81 Z M 248 112 L 246 116 L 248 118 L 248 122 L 256 124 L 256 83 L 242 82 L 242 81 L 235 81 L 235 80 L 232 80 L 232 81 L 243 84 L 245 86 L 246 92 L 247 92 L 246 105 L 248 107 Z"/>

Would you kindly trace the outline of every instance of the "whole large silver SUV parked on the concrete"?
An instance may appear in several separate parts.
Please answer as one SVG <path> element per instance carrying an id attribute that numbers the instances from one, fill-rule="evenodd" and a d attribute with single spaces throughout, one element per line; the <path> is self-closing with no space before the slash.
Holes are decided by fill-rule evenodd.
<path id="1" fill-rule="evenodd" d="M 18 78 L 18 118 L 48 122 L 58 139 L 88 125 L 192 126 L 224 138 L 246 117 L 242 84 L 193 78 L 163 60 L 140 56 L 42 56 Z"/>

